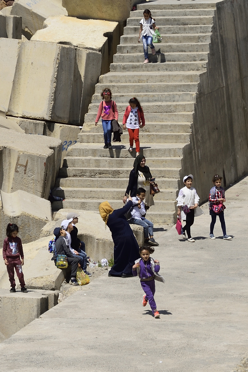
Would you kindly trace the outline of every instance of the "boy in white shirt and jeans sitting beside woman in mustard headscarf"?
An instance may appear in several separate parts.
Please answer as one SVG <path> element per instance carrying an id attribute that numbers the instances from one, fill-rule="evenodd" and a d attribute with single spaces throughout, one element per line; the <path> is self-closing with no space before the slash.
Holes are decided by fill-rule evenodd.
<path id="1" fill-rule="evenodd" d="M 136 192 L 136 196 L 132 199 L 133 210 L 131 212 L 131 222 L 134 225 L 140 225 L 144 227 L 146 244 L 149 244 L 149 246 L 159 246 L 157 241 L 155 241 L 153 238 L 153 223 L 151 221 L 148 221 L 148 219 L 146 219 L 145 217 L 142 217 L 146 214 L 145 203 L 143 202 L 143 200 L 145 199 L 145 189 L 143 189 L 143 187 L 139 187 Z"/>

